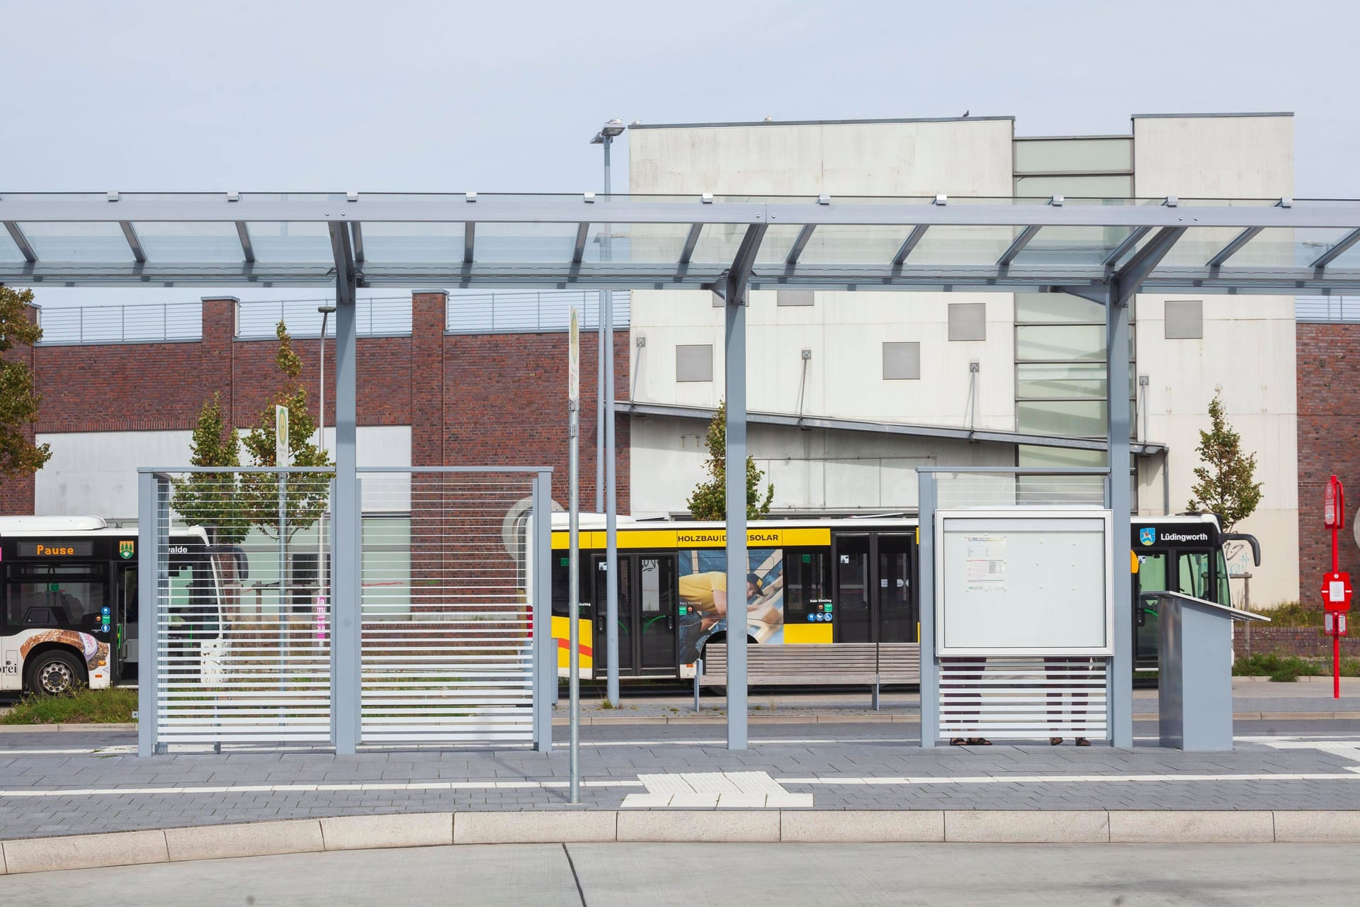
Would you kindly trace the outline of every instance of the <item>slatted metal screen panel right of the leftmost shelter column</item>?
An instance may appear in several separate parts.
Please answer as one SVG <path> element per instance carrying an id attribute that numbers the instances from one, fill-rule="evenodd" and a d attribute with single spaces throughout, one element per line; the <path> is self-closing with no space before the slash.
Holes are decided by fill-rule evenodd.
<path id="1" fill-rule="evenodd" d="M 364 744 L 533 740 L 532 473 L 363 472 Z"/>

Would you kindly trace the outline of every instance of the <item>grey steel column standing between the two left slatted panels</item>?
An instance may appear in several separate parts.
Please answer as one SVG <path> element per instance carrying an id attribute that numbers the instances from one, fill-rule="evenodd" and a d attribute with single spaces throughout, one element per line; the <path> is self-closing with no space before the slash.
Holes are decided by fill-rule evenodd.
<path id="1" fill-rule="evenodd" d="M 350 235 L 344 224 L 335 224 L 332 245 L 336 247 L 336 498 L 335 572 L 330 596 L 330 674 L 332 722 L 337 753 L 354 753 L 359 745 L 362 706 L 360 666 L 360 577 L 363 558 L 363 528 L 359 510 L 358 426 L 358 370 L 354 258 Z"/>

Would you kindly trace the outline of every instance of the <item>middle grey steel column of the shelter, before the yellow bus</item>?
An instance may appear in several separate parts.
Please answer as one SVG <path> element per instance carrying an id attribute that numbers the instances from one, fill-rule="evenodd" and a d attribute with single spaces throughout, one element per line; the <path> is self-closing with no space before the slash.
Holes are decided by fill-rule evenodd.
<path id="1" fill-rule="evenodd" d="M 728 407 L 728 749 L 747 748 L 747 306 L 728 277 L 724 343 Z"/>

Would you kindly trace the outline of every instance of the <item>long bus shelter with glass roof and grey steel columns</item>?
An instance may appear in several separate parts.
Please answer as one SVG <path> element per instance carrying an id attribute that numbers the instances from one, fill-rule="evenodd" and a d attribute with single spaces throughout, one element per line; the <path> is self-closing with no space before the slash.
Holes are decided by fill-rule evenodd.
<path id="1" fill-rule="evenodd" d="M 728 462 L 747 457 L 749 290 L 1074 294 L 1106 309 L 1106 447 L 1114 476 L 1122 476 L 1130 453 L 1125 351 L 1134 294 L 1360 292 L 1355 200 L 0 193 L 0 223 L 5 284 L 335 287 L 332 683 L 336 711 L 354 715 L 360 287 L 711 291 L 726 310 Z M 910 295 L 902 309 L 910 320 Z M 566 407 L 563 416 L 566 442 Z M 1129 513 L 1129 483 L 1106 487 L 1107 507 Z M 745 582 L 745 499 L 744 472 L 730 470 L 728 589 Z M 1129 747 L 1132 583 L 1129 564 L 1114 563 L 1111 740 Z M 615 615 L 608 621 L 613 626 Z M 728 640 L 732 749 L 747 747 L 745 642 L 740 632 Z M 616 664 L 611 653 L 609 665 Z M 341 752 L 356 742 L 348 733 L 336 740 Z"/>

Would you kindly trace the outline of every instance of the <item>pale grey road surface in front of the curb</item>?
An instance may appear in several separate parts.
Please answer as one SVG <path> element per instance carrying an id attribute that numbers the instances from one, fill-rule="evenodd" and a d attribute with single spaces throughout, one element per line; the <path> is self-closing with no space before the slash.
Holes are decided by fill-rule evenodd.
<path id="1" fill-rule="evenodd" d="M 1348 844 L 496 844 L 0 876 L 0 903 L 1269 904 L 1355 903 Z"/>

